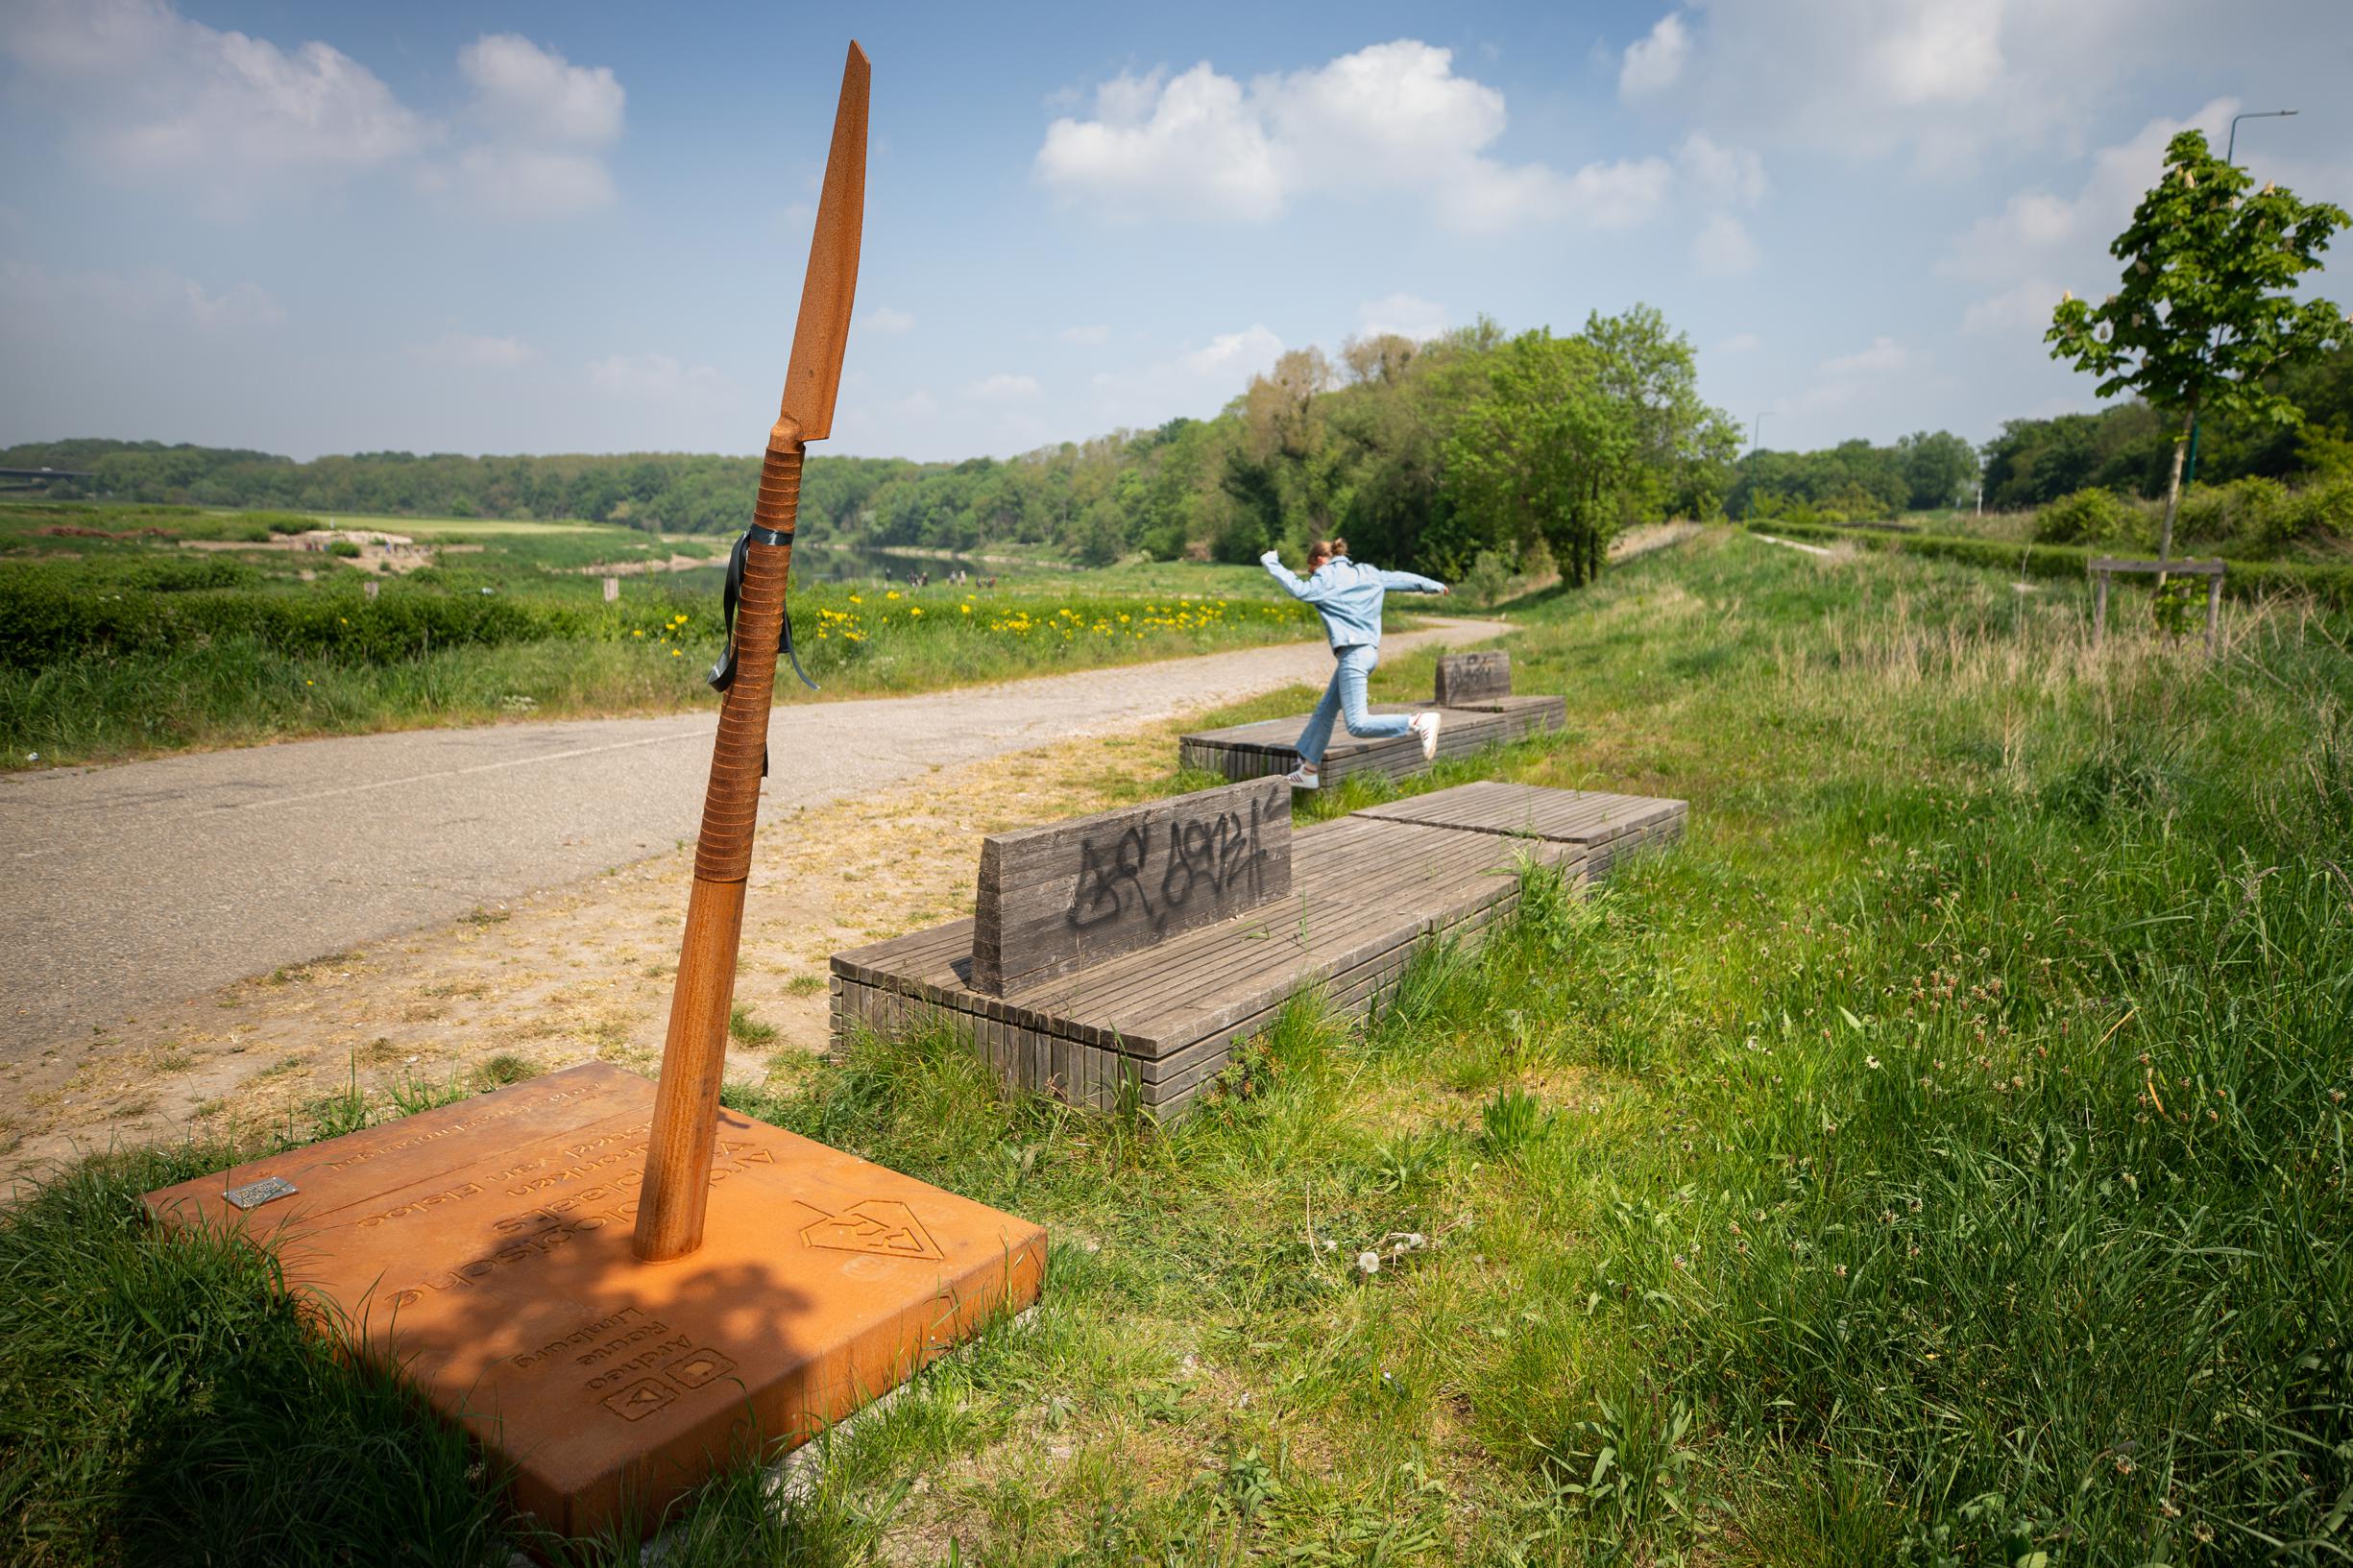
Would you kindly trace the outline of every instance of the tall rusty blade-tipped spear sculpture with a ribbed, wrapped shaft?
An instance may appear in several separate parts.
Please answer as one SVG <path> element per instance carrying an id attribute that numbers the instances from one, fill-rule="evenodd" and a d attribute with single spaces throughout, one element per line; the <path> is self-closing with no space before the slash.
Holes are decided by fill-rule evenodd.
<path id="1" fill-rule="evenodd" d="M 645 1154 L 633 1251 L 645 1262 L 685 1258 L 704 1244 L 711 1201 L 711 1143 L 718 1133 L 720 1074 L 727 1065 L 727 1009 L 734 1001 L 736 947 L 744 940 L 744 879 L 767 773 L 767 710 L 776 689 L 776 654 L 791 649 L 784 585 L 793 564 L 793 515 L 800 508 L 802 444 L 833 430 L 842 383 L 842 343 L 859 282 L 859 230 L 866 214 L 866 52 L 849 45 L 842 96 L 833 110 L 833 150 L 809 235 L 809 275 L 800 287 L 793 362 L 784 407 L 767 433 L 760 501 L 736 543 L 741 590 L 734 642 L 711 682 L 725 691 L 711 750 L 704 830 L 694 844 L 694 891 L 671 997 L 671 1034 L 661 1046 L 654 1133 Z M 798 663 L 795 663 L 798 668 Z"/>

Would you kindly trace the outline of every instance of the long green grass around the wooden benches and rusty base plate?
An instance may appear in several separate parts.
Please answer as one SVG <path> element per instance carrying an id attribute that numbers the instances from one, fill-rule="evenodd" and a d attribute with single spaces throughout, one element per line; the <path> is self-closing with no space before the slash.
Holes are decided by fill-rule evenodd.
<path id="1" fill-rule="evenodd" d="M 2344 1561 L 2344 625 L 2092 658 L 2066 595 L 1725 534 L 1527 618 L 1572 731 L 1504 766 L 1689 797 L 1675 853 L 1539 882 L 1369 1030 L 1299 1006 L 1169 1133 L 1000 1103 L 936 1039 L 729 1093 L 1056 1260 L 1033 1331 L 861 1425 L 784 1526 L 713 1488 L 682 1561 Z M 125 1561 L 108 1476 L 174 1401 L 308 1387 L 238 1385 L 200 1302 L 252 1281 L 125 1227 L 141 1180 L 0 1232 L 38 1561 Z M 1431 1246 L 1353 1279 L 1398 1232 Z M 134 1272 L 200 1291 L 151 1324 Z M 42 1331 L 68 1312 L 104 1356 Z M 416 1469 L 322 1497 L 247 1458 L 139 1507 L 365 1556 Z"/>

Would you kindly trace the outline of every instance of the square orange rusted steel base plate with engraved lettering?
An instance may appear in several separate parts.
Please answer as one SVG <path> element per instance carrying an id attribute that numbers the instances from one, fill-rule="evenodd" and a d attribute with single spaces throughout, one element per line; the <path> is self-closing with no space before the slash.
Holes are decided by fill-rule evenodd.
<path id="1" fill-rule="evenodd" d="M 567 1535 L 642 1523 L 1038 1300 L 1045 1229 L 720 1112 L 701 1251 L 628 1251 L 654 1086 L 605 1063 L 146 1194 L 271 1239 Z M 235 1208 L 261 1178 L 292 1197 Z"/>

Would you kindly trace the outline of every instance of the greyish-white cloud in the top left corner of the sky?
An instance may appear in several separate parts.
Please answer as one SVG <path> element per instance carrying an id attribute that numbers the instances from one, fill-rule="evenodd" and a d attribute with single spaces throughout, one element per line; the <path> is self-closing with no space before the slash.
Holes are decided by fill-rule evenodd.
<path id="1" fill-rule="evenodd" d="M 99 169 L 212 202 L 379 169 L 428 139 L 348 54 L 207 28 L 165 0 L 9 5 L 0 49 L 28 68 L 35 94 L 54 96 Z"/>

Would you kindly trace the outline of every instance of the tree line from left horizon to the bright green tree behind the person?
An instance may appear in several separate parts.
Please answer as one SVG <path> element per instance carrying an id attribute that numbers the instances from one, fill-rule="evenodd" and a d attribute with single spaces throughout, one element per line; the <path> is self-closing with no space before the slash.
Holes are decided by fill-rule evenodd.
<path id="1" fill-rule="evenodd" d="M 1581 331 L 1506 334 L 1489 320 L 1433 341 L 1351 339 L 1282 355 L 1214 418 L 1174 418 L 1009 461 L 812 456 L 814 538 L 974 550 L 1061 548 L 1254 559 L 1344 534 L 1367 557 L 1461 574 L 1482 550 L 1539 545 L 1572 576 L 1609 536 L 1713 515 L 1739 430 L 1697 393 L 1685 334 L 1649 306 Z M 758 458 L 701 454 L 459 456 L 360 451 L 308 463 L 221 447 L 64 440 L 0 465 L 92 475 L 61 496 L 367 512 L 586 517 L 722 534 L 751 515 Z"/>

